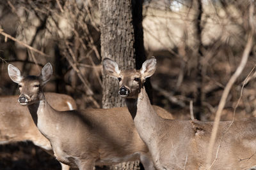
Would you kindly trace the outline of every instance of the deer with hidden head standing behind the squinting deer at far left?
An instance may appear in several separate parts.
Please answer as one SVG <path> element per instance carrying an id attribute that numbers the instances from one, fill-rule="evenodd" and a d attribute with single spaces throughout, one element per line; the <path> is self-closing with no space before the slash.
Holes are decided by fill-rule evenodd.
<path id="1" fill-rule="evenodd" d="M 65 111 L 77 108 L 74 99 L 68 95 L 47 92 L 45 97 L 56 110 Z M 20 106 L 17 98 L 18 96 L 0 97 L 0 145 L 31 141 L 53 155 L 51 143 L 38 131 L 28 108 Z M 69 169 L 69 167 L 61 163 L 61 169 Z"/>

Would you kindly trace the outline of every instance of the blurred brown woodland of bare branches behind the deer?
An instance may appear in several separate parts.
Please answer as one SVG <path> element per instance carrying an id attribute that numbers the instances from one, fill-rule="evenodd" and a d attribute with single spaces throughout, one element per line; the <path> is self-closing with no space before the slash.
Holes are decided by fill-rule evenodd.
<path id="1" fill-rule="evenodd" d="M 243 0 L 143 2 L 146 55 L 157 58 L 157 70 L 150 79 L 154 104 L 175 118 L 190 119 L 193 103 L 196 118 L 214 120 L 223 89 L 241 61 L 252 29 L 250 19 L 255 20 L 249 16 L 249 7 L 250 1 Z M 101 108 L 99 10 L 95 0 L 0 1 L 0 96 L 19 94 L 8 77 L 8 63 L 24 74 L 39 74 L 51 62 L 54 76 L 45 92 L 68 94 L 79 109 Z M 221 120 L 232 120 L 243 81 L 255 66 L 255 52 L 253 44 Z M 253 70 L 236 118 L 256 117 L 255 77 Z M 39 167 L 60 169 L 54 158 L 29 142 L 0 146 L 0 169 Z"/>

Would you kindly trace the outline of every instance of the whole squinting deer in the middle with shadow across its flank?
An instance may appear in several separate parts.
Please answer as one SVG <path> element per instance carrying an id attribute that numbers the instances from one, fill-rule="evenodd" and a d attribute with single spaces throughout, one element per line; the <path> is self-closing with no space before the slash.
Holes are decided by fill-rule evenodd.
<path id="1" fill-rule="evenodd" d="M 148 148 L 140 138 L 126 107 L 57 111 L 45 99 L 43 87 L 51 79 L 52 66 L 45 64 L 40 76 L 21 76 L 8 65 L 12 81 L 19 84 L 19 103 L 27 106 L 38 130 L 63 164 L 79 169 L 140 159 L 145 169 L 155 169 Z M 163 108 L 157 113 L 172 118 Z"/>

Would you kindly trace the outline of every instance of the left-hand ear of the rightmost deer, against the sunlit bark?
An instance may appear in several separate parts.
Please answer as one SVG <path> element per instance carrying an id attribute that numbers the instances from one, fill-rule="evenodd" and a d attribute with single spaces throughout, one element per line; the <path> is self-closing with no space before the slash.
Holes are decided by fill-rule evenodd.
<path id="1" fill-rule="evenodd" d="M 102 62 L 102 65 L 103 65 L 103 70 L 106 74 L 114 78 L 120 77 L 121 71 L 119 69 L 118 64 L 115 61 L 109 58 L 105 58 Z"/>

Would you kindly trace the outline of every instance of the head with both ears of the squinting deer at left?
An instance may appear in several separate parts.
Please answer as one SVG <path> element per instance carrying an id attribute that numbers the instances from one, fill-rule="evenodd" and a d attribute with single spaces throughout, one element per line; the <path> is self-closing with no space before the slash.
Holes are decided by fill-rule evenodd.
<path id="1" fill-rule="evenodd" d="M 9 64 L 8 74 L 12 81 L 19 84 L 19 103 L 22 106 L 27 106 L 39 101 L 40 97 L 43 96 L 42 87 L 44 87 L 45 83 L 47 83 L 51 78 L 52 66 L 49 62 L 45 64 L 40 76 L 22 77 L 20 75 L 20 70 L 12 64 Z"/>

